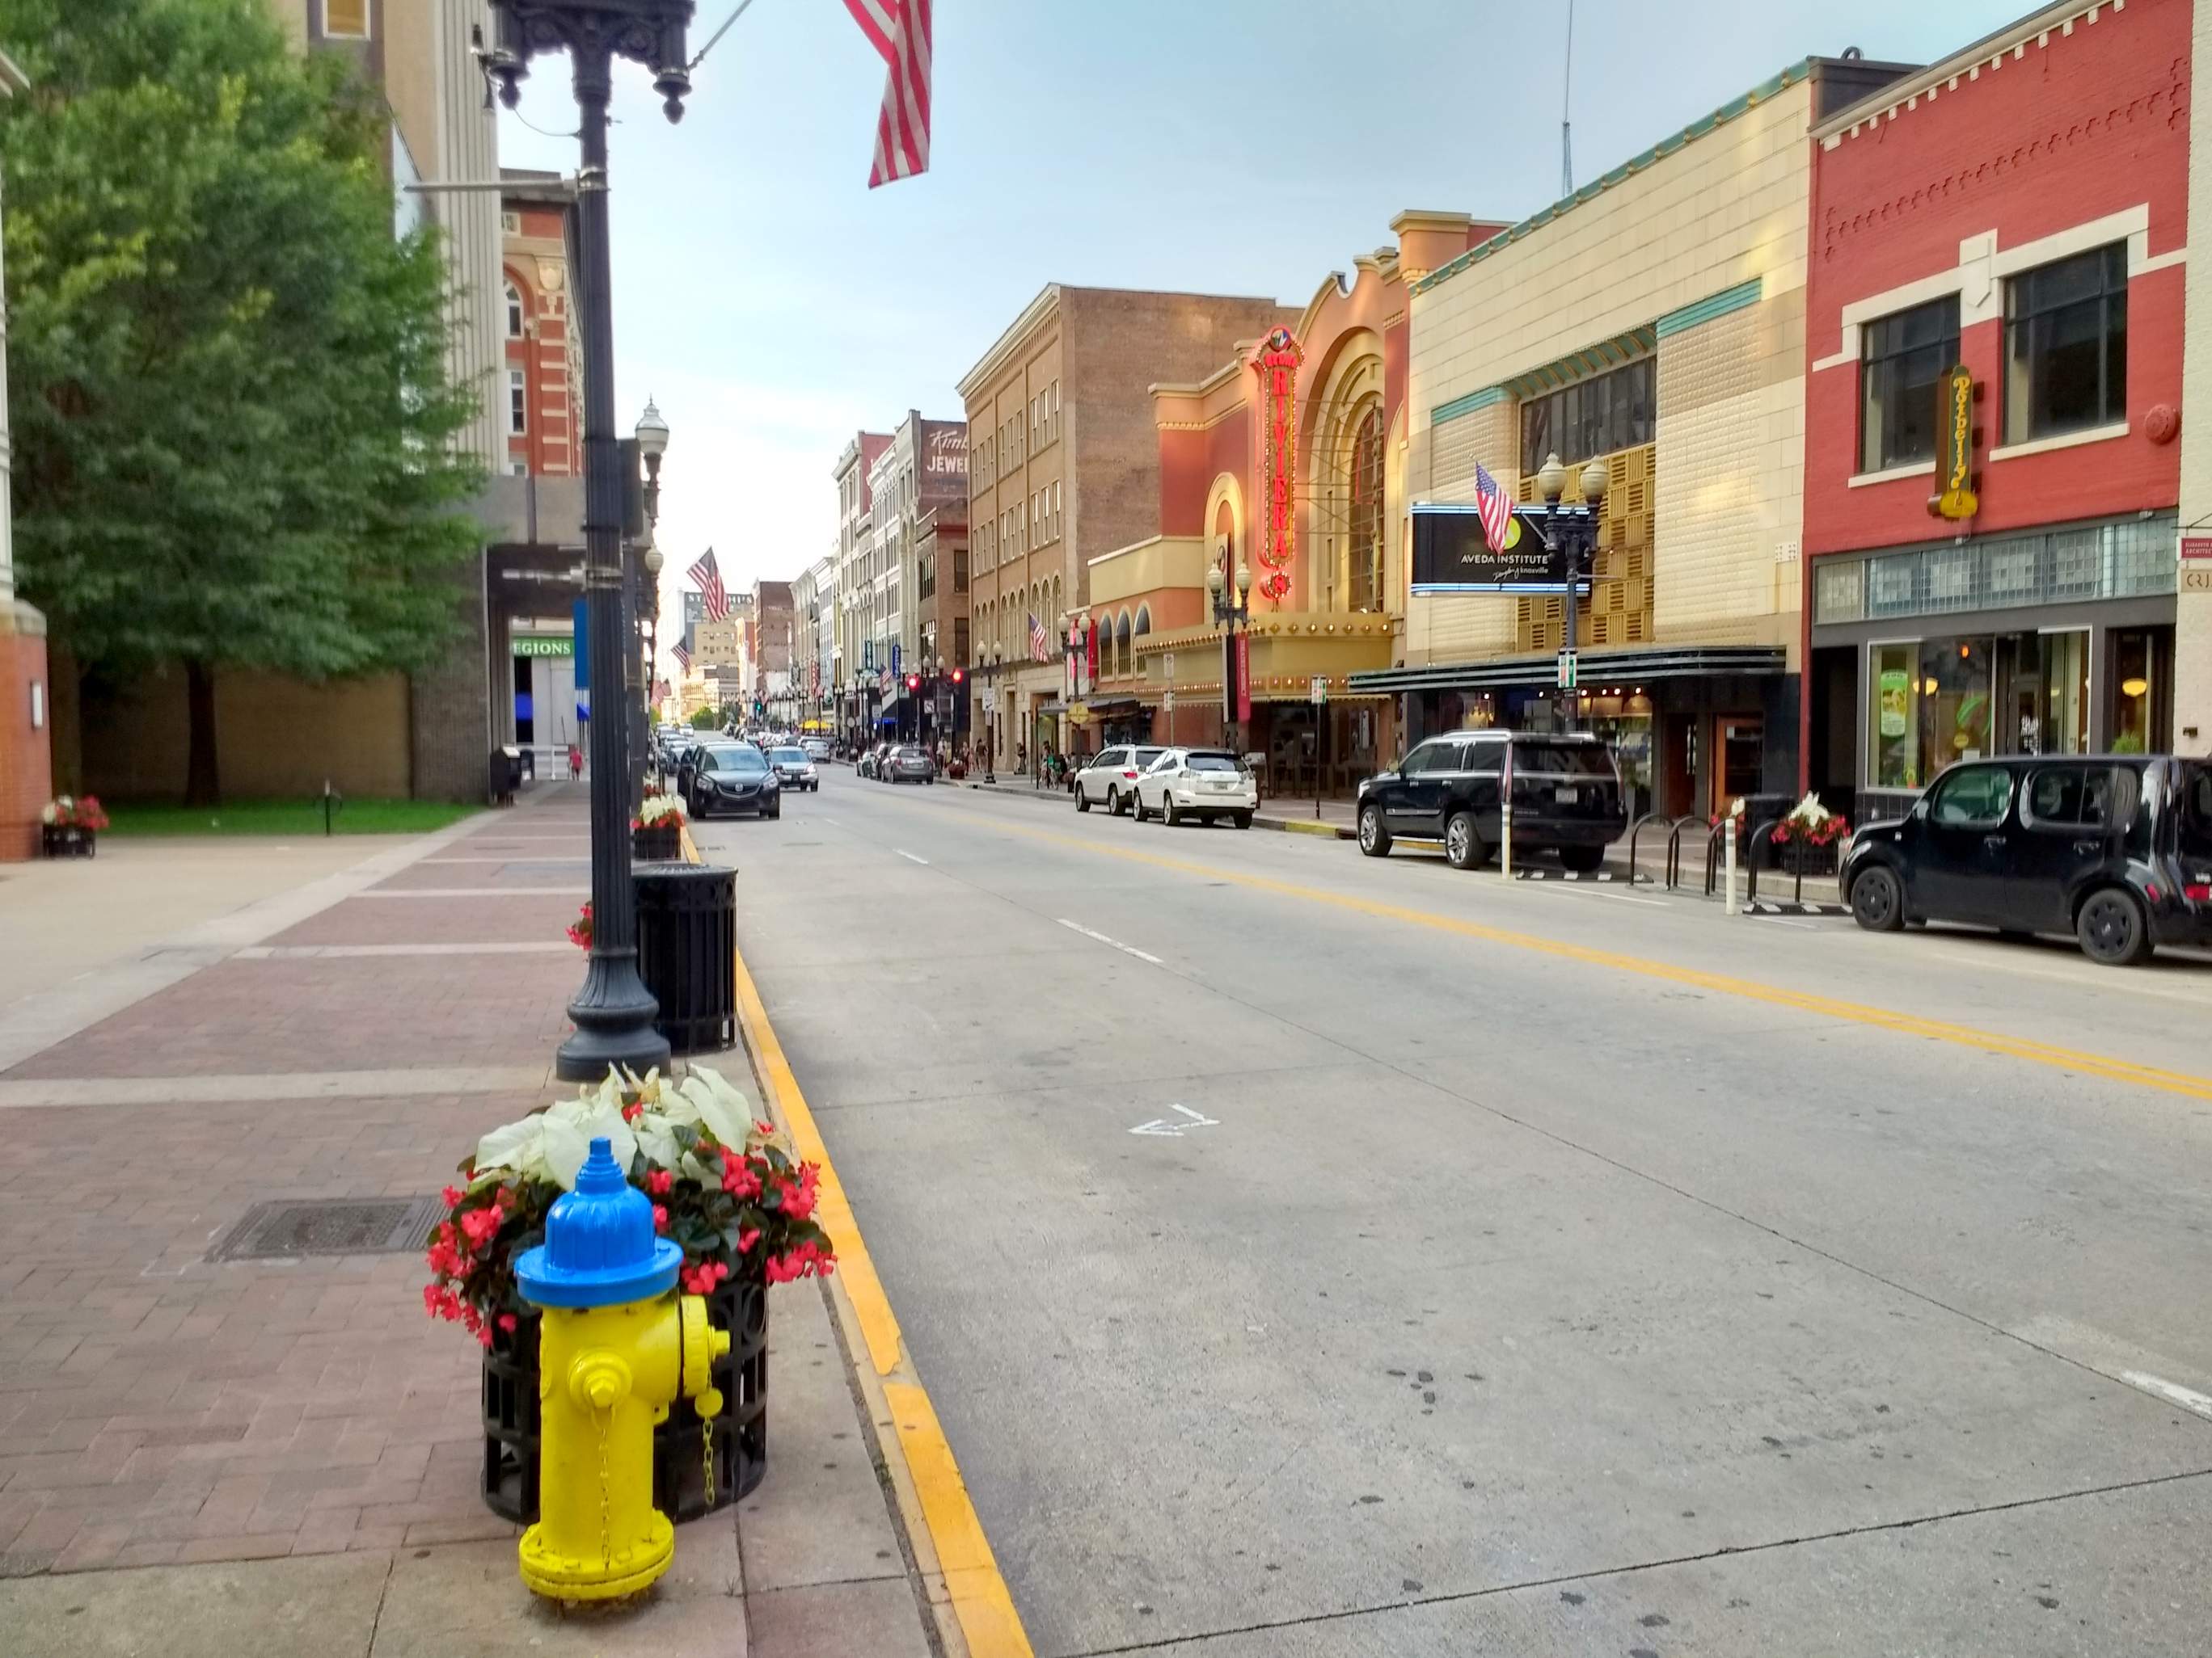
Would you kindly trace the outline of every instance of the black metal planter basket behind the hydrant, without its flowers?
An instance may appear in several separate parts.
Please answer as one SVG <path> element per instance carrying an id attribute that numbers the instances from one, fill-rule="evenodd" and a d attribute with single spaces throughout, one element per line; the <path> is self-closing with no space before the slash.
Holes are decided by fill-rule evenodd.
<path id="1" fill-rule="evenodd" d="M 759 1260 L 759 1258 L 757 1258 Z M 768 1475 L 768 1284 L 728 1278 L 706 1298 L 730 1351 L 714 1362 L 721 1415 L 690 1402 L 653 1430 L 653 1505 L 695 1521 L 750 1494 Z M 484 1508 L 518 1525 L 538 1521 L 538 1315 L 484 1349 Z"/>

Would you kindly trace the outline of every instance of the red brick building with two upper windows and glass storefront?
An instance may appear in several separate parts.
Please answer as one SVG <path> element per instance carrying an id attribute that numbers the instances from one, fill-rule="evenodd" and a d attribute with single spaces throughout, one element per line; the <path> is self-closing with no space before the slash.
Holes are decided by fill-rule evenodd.
<path id="1" fill-rule="evenodd" d="M 1814 128 L 1807 787 L 2172 743 L 2188 104 L 2070 0 Z"/>

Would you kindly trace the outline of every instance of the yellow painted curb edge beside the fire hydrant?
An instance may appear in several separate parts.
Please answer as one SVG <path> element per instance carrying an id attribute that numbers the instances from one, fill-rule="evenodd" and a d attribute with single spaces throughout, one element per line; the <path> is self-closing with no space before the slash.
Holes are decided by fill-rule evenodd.
<path id="1" fill-rule="evenodd" d="M 936 1556 L 933 1561 L 920 1561 L 925 1581 L 940 1576 L 945 1598 L 951 1603 L 958 1631 L 971 1658 L 1031 1658 L 1029 1636 L 1022 1629 L 1020 1614 L 1013 1609 L 1006 1581 L 998 1572 L 998 1559 L 991 1554 L 982 1521 L 975 1519 L 967 1481 L 960 1479 L 960 1463 L 953 1459 L 953 1448 L 938 1426 L 938 1413 L 929 1404 L 929 1393 L 914 1375 L 905 1340 L 898 1333 L 898 1318 L 883 1293 L 876 1262 L 860 1240 L 860 1225 L 854 1220 L 852 1203 L 845 1198 L 845 1185 L 830 1163 L 830 1150 L 814 1125 L 814 1112 L 807 1110 L 805 1094 L 799 1092 L 799 1079 L 783 1057 L 783 1043 L 776 1041 L 774 1026 L 768 1024 L 768 1008 L 761 1006 L 761 993 L 752 984 L 752 973 L 745 970 L 743 951 L 737 953 L 734 968 L 737 1019 L 745 1032 L 745 1048 L 752 1052 L 761 1081 L 770 1092 L 770 1103 L 790 1130 L 799 1156 L 821 1165 L 814 1218 L 830 1234 L 830 1245 L 836 1249 L 838 1269 L 832 1284 L 838 1291 L 832 1295 L 832 1304 L 841 1311 L 852 1309 L 860 1326 L 860 1340 L 867 1346 L 874 1382 L 885 1402 L 885 1413 L 898 1435 L 898 1452 L 905 1459 L 905 1475 L 911 1479 L 925 1532 L 925 1536 L 916 1536 L 914 1541 L 918 1545 L 927 1543 Z M 894 1483 L 900 1488 L 905 1483 L 898 1481 L 896 1468 Z M 920 1556 L 920 1552 L 918 1547 L 916 1554 Z"/>

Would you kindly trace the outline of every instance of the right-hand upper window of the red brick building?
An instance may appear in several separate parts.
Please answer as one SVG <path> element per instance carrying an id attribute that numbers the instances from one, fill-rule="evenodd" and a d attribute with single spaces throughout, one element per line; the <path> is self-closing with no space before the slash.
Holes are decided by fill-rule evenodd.
<path id="1" fill-rule="evenodd" d="M 2004 442 L 2128 418 L 2128 245 L 2004 285 Z"/>

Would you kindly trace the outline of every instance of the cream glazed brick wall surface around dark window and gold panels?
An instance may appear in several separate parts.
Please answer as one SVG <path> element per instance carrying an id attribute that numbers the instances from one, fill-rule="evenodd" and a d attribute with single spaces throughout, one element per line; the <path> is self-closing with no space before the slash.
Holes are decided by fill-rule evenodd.
<path id="1" fill-rule="evenodd" d="M 1887 64 L 1809 60 L 1422 279 L 1409 493 L 1520 484 L 1522 391 L 1657 354 L 1652 643 L 1798 652 L 1816 111 Z M 1573 455 L 1571 460 L 1584 460 Z M 1418 597 L 1407 663 L 1509 652 L 1517 601 Z"/>

